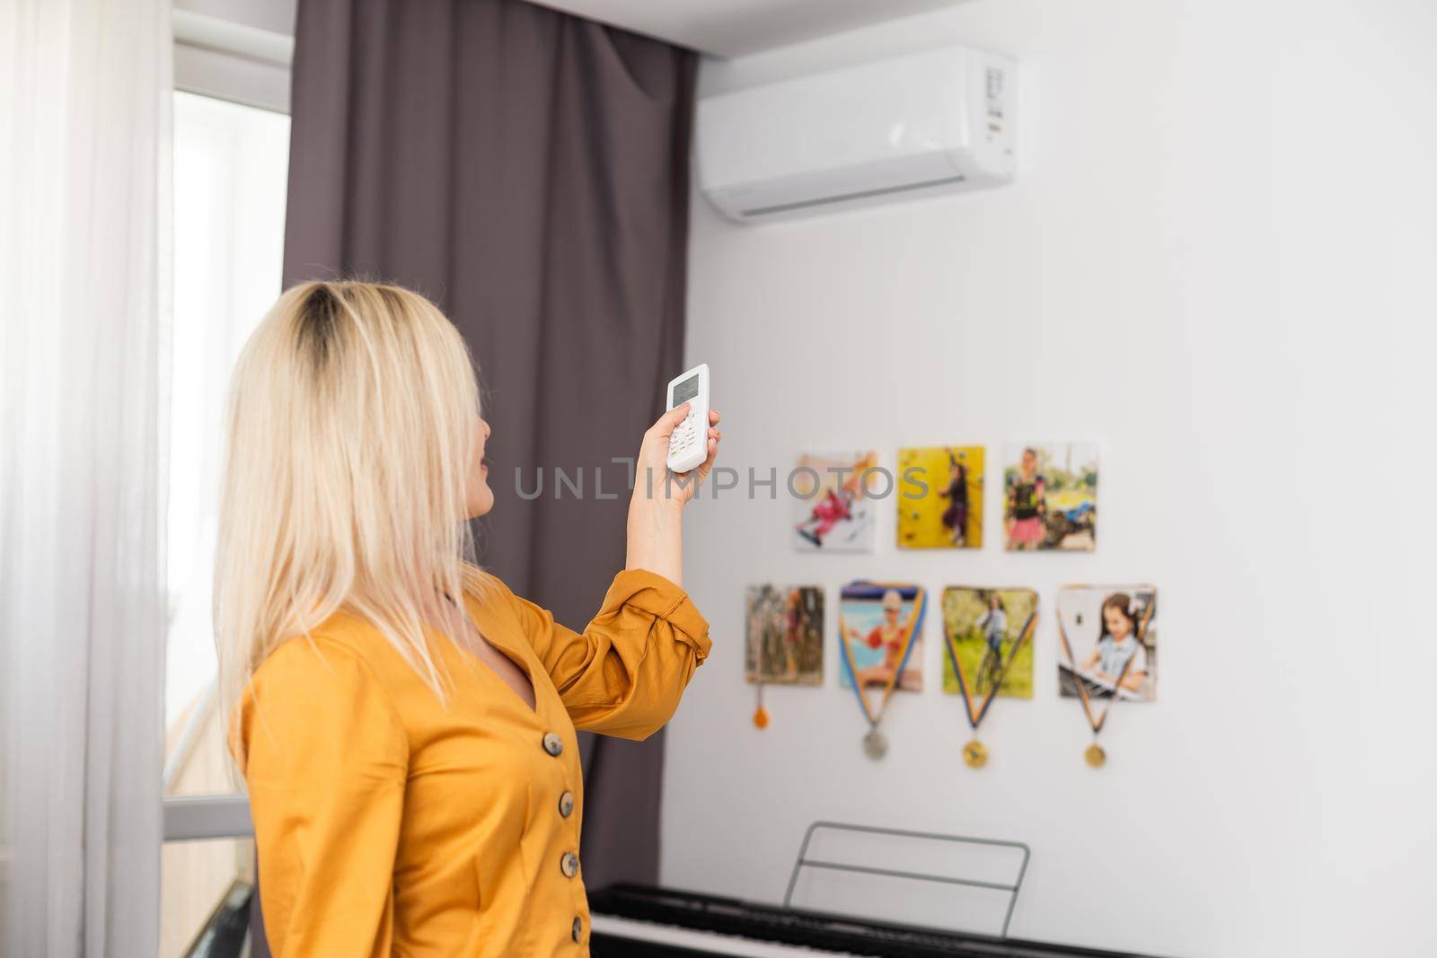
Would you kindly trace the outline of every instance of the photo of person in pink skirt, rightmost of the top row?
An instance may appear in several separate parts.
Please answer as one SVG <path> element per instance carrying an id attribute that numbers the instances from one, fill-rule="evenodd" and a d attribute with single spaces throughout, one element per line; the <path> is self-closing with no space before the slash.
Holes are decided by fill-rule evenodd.
<path id="1" fill-rule="evenodd" d="M 1010 444 L 1003 470 L 1003 547 L 1092 552 L 1098 544 L 1098 447 Z"/>

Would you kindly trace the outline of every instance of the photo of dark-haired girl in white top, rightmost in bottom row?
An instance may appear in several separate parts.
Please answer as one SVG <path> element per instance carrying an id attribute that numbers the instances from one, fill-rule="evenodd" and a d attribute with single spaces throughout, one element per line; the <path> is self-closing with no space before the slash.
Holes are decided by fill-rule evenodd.
<path id="1" fill-rule="evenodd" d="M 1151 702 L 1158 694 L 1158 590 L 1066 586 L 1058 592 L 1058 685 L 1078 698 Z"/>

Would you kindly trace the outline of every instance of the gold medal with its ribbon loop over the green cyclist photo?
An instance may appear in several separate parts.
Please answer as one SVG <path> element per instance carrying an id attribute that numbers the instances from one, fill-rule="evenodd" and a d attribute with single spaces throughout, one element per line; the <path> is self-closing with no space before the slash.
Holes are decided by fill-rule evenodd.
<path id="1" fill-rule="evenodd" d="M 1009 595 L 1007 603 L 1003 602 L 1003 593 Z M 980 603 L 981 612 L 973 609 L 974 597 Z M 1026 608 L 1027 615 L 1004 656 L 1002 648 L 1007 635 L 1009 605 L 1017 605 L 1017 609 L 1012 609 L 1013 612 Z M 950 586 L 943 592 L 943 610 L 944 648 L 948 651 L 948 665 L 957 681 L 958 692 L 963 695 L 969 727 L 973 730 L 973 738 L 963 745 L 963 761 L 970 768 L 981 768 L 987 764 L 989 753 L 987 747 L 979 741 L 979 725 L 1003 687 L 1003 679 L 1007 678 L 1013 659 L 1033 638 L 1033 631 L 1038 626 L 1038 593 L 1030 589 L 999 590 Z M 970 669 L 963 668 L 963 661 L 974 658 L 973 652 L 977 651 L 973 648 L 974 645 L 981 652 L 979 652 L 977 672 L 971 674 Z M 964 655 L 966 651 L 967 655 Z M 981 699 L 974 697 L 976 691 L 983 695 Z"/>

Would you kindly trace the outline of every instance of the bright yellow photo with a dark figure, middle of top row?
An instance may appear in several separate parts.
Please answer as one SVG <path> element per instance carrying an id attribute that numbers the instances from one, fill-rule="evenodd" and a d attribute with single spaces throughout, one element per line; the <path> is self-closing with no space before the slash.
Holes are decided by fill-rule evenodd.
<path id="1" fill-rule="evenodd" d="M 983 547 L 983 447 L 898 450 L 898 547 Z"/>

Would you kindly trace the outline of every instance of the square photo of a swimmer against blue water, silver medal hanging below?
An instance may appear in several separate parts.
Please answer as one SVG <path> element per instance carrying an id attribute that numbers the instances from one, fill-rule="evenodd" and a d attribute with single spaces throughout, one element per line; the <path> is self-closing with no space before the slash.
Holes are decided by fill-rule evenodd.
<path id="1" fill-rule="evenodd" d="M 851 582 L 844 586 L 838 610 L 844 669 L 839 685 L 887 688 L 897 674 L 897 688 L 923 691 L 923 586 Z"/>

